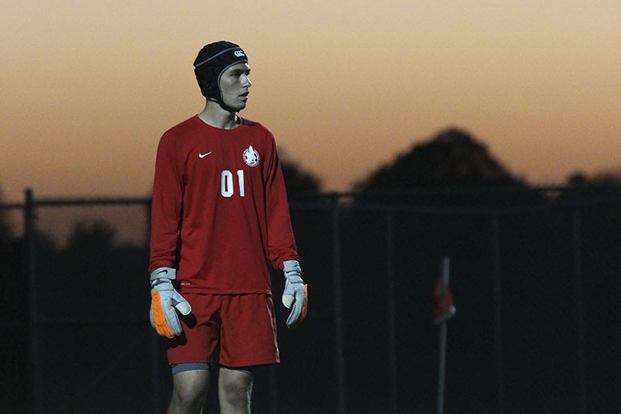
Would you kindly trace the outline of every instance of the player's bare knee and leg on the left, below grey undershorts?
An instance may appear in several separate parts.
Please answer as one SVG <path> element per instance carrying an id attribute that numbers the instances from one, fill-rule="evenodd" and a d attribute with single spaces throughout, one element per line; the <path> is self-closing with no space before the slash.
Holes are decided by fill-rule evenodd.
<path id="1" fill-rule="evenodd" d="M 209 370 L 183 371 L 172 375 L 172 399 L 167 414 L 202 413 L 207 388 Z"/>

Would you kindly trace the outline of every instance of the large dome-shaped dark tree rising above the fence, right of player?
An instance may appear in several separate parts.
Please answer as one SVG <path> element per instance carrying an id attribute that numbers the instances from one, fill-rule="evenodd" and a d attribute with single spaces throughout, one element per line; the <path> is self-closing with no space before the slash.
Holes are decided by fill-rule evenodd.
<path id="1" fill-rule="evenodd" d="M 491 187 L 496 191 L 486 190 Z M 384 193 L 385 198 L 386 193 L 391 193 L 391 199 L 398 197 L 408 203 L 500 206 L 518 199 L 532 201 L 533 196 L 515 192 L 526 187 L 469 132 L 449 128 L 397 155 L 391 164 L 356 184 L 355 189 L 364 197 L 373 195 L 377 199 L 377 193 Z M 500 193 L 499 188 L 506 191 Z"/>

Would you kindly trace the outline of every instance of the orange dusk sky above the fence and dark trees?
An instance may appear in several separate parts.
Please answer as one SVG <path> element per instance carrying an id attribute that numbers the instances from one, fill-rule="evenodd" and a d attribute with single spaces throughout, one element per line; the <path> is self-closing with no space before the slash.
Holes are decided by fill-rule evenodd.
<path id="1" fill-rule="evenodd" d="M 621 1 L 2 1 L 3 201 L 150 194 L 204 106 L 193 60 L 246 50 L 242 116 L 324 190 L 457 126 L 531 184 L 621 169 Z"/>

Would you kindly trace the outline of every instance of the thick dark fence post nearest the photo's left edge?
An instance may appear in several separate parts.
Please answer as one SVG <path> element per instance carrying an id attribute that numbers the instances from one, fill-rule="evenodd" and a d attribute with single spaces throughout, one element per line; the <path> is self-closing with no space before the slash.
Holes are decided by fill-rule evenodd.
<path id="1" fill-rule="evenodd" d="M 24 239 L 26 239 L 26 277 L 28 279 L 28 334 L 30 339 L 30 382 L 32 384 L 32 412 L 41 410 L 41 373 L 39 356 L 39 320 L 37 312 L 37 245 L 34 230 L 34 196 L 30 188 L 24 194 Z"/>

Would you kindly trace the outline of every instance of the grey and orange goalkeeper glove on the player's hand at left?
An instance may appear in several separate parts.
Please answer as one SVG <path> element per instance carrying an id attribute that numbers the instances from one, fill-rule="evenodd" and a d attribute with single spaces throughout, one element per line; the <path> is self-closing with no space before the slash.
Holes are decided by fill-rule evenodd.
<path id="1" fill-rule="evenodd" d="M 157 268 L 151 273 L 151 326 L 161 336 L 167 338 L 181 335 L 183 329 L 177 316 L 188 315 L 192 308 L 183 296 L 172 286 L 171 280 L 176 277 L 173 268 Z"/>

